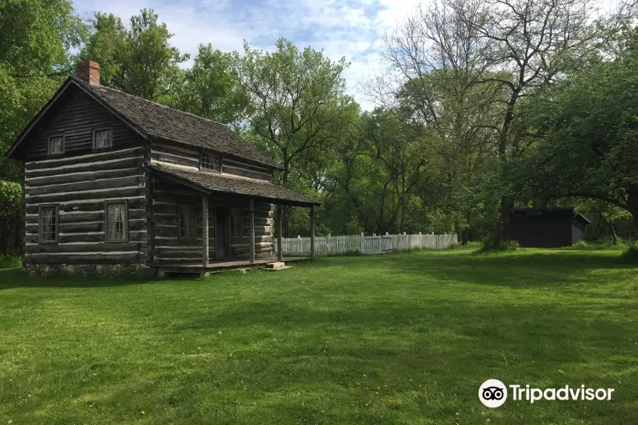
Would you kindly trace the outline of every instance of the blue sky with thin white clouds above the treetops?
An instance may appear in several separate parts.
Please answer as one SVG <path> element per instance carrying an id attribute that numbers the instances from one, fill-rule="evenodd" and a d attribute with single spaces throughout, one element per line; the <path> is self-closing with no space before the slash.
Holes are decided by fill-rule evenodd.
<path id="1" fill-rule="evenodd" d="M 191 56 L 199 43 L 224 51 L 271 49 L 285 37 L 299 47 L 323 49 L 332 60 L 352 62 L 344 74 L 348 91 L 381 69 L 383 35 L 419 4 L 419 0 L 75 0 L 84 18 L 112 12 L 128 23 L 141 8 L 153 8 L 174 33 L 172 43 Z"/>

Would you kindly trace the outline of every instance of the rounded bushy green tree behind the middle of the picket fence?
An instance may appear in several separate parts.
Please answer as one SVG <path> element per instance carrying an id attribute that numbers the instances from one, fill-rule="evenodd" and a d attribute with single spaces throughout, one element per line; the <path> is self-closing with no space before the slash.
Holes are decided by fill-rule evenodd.
<path id="1" fill-rule="evenodd" d="M 353 221 L 368 233 L 403 232 L 413 224 L 408 205 L 418 202 L 425 157 L 392 113 L 376 108 L 358 121 L 335 147 L 335 161 L 321 181 L 326 208 L 347 205 L 332 220 L 341 232 Z"/>

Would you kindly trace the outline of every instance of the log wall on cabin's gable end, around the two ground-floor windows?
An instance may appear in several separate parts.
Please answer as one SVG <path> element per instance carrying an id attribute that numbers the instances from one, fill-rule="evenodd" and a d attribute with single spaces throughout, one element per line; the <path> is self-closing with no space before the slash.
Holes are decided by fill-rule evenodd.
<path id="1" fill-rule="evenodd" d="M 114 141 L 115 144 L 115 141 Z M 145 263 L 148 159 L 143 147 L 26 162 L 26 264 Z M 106 241 L 107 200 L 127 200 L 128 240 Z M 57 204 L 57 244 L 41 244 L 40 205 Z"/>

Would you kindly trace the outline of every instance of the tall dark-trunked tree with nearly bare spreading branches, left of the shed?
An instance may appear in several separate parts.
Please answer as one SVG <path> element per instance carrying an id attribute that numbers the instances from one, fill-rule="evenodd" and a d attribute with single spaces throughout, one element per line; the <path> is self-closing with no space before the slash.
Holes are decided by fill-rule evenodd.
<path id="1" fill-rule="evenodd" d="M 520 99 L 556 82 L 562 74 L 600 52 L 613 33 L 610 21 L 614 28 L 627 22 L 623 13 L 592 20 L 595 11 L 593 0 L 492 0 L 478 9 L 478 18 L 464 16 L 487 47 L 483 51 L 487 69 L 508 76 L 485 75 L 481 81 L 500 84 L 508 91 L 498 134 L 501 168 L 520 154 L 520 137 L 511 131 Z M 510 236 L 513 195 L 504 179 L 502 183 L 503 198 L 493 244 Z"/>

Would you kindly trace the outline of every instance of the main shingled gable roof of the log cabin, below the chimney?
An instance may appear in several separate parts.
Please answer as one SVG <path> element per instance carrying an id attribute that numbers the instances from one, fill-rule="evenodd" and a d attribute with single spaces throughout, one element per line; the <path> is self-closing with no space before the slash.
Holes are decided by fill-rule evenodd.
<path id="1" fill-rule="evenodd" d="M 40 113 L 33 118 L 21 135 L 16 138 L 16 141 L 13 142 L 13 145 L 6 153 L 7 156 L 13 153 L 28 132 L 38 123 L 38 120 L 42 118 L 70 84 L 85 91 L 148 140 L 169 140 L 182 145 L 211 149 L 221 154 L 228 154 L 274 169 L 281 169 L 281 166 L 273 159 L 259 152 L 257 147 L 242 139 L 226 125 L 125 94 L 123 91 L 96 84 L 88 84 L 75 77 L 69 77 L 65 84 L 62 84 L 60 90 L 57 91 Z"/>

